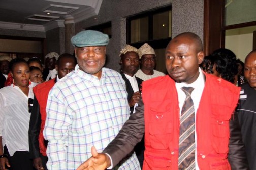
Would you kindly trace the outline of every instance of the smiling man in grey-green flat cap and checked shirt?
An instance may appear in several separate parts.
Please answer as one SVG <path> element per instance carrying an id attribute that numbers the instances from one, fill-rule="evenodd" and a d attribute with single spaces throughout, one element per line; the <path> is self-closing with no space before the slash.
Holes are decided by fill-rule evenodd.
<path id="1" fill-rule="evenodd" d="M 71 38 L 75 47 L 75 70 L 55 83 L 49 92 L 44 137 L 47 168 L 76 169 L 114 139 L 130 116 L 125 82 L 105 64 L 108 35 L 82 31 Z M 134 153 L 113 169 L 140 169 Z"/>

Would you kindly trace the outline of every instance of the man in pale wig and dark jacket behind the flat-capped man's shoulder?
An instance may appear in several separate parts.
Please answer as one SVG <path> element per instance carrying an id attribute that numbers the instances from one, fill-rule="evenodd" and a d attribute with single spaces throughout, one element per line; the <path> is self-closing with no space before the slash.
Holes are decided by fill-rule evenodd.
<path id="1" fill-rule="evenodd" d="M 126 91 L 128 93 L 128 103 L 130 106 L 131 114 L 135 113 L 137 102 L 141 99 L 141 84 L 143 80 L 135 76 L 135 73 L 137 72 L 140 64 L 139 54 L 140 51 L 135 47 L 125 45 L 119 55 L 121 57 L 120 65 L 122 66 L 121 75 L 126 84 Z M 144 150 L 144 139 L 142 139 L 141 142 L 139 142 L 134 148 L 141 168 L 144 161 Z"/>

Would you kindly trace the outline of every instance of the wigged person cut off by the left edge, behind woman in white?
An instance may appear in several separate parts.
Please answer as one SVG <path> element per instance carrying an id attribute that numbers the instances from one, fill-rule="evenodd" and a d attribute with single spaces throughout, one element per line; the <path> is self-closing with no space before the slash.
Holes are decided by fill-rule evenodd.
<path id="1" fill-rule="evenodd" d="M 0 56 L 0 89 L 5 86 L 5 82 L 9 73 L 9 63 L 11 60 L 11 57 Z"/>

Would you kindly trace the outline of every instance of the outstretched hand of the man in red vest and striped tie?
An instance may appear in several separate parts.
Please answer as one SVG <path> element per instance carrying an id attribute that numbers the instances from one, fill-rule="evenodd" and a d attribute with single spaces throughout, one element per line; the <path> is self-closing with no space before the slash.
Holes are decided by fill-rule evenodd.
<path id="1" fill-rule="evenodd" d="M 91 147 L 92 156 L 82 163 L 76 170 L 105 170 L 111 166 L 108 155 L 98 153 L 94 146 Z"/>

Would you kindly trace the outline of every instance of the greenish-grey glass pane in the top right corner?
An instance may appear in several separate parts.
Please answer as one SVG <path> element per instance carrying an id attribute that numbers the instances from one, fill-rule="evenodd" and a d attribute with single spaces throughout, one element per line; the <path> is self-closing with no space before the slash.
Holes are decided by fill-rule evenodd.
<path id="1" fill-rule="evenodd" d="M 225 23 L 234 25 L 256 21 L 255 0 L 225 0 Z"/>

